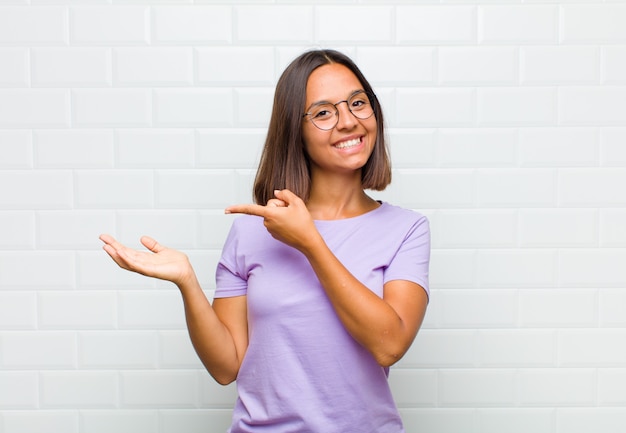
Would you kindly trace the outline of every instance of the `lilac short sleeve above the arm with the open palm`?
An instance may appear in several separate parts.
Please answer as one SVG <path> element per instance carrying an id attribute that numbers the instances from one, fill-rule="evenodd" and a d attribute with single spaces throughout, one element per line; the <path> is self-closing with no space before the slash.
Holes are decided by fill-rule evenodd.
<path id="1" fill-rule="evenodd" d="M 244 269 L 244 261 L 241 260 L 241 253 L 240 233 L 235 221 L 228 233 L 215 271 L 215 298 L 230 298 L 247 293 L 247 272 Z"/>

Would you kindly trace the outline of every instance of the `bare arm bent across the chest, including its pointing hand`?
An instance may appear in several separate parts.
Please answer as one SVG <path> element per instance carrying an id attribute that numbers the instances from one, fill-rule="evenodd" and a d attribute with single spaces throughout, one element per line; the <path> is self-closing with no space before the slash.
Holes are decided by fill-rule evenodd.
<path id="1" fill-rule="evenodd" d="M 385 284 L 380 298 L 356 279 L 328 248 L 306 206 L 288 190 L 267 206 L 237 205 L 227 213 L 264 218 L 270 234 L 301 251 L 310 262 L 337 316 L 352 337 L 384 367 L 396 363 L 409 349 L 428 305 L 426 291 L 407 280 Z"/>

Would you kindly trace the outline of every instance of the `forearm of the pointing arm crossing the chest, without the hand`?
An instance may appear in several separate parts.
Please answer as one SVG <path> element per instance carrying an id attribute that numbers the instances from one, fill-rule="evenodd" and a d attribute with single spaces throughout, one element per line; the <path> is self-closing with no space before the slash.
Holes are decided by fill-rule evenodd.
<path id="1" fill-rule="evenodd" d="M 381 365 L 395 363 L 415 334 L 394 308 L 357 280 L 321 237 L 302 250 L 350 335 Z"/>

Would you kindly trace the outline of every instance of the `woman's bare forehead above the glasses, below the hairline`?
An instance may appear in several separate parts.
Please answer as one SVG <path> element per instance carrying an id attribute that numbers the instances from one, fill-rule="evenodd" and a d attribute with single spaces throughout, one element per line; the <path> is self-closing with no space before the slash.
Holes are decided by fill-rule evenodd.
<path id="1" fill-rule="evenodd" d="M 318 101 L 336 101 L 348 97 L 355 90 L 362 90 L 363 85 L 346 66 L 331 63 L 315 69 L 306 85 L 307 105 Z"/>

